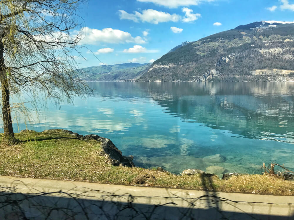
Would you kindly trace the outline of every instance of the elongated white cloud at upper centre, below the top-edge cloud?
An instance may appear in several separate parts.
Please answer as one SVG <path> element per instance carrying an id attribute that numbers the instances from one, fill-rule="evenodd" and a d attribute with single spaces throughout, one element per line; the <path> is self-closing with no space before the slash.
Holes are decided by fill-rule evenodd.
<path id="1" fill-rule="evenodd" d="M 120 19 L 127 19 L 132 20 L 135 22 L 148 22 L 153 24 L 158 24 L 161 22 L 168 22 L 168 21 L 179 21 L 181 16 L 177 14 L 169 14 L 162 11 L 156 11 L 153 9 L 143 10 L 142 13 L 138 11 L 134 11 L 133 14 L 127 13 L 126 11 L 119 10 L 120 12 Z"/>

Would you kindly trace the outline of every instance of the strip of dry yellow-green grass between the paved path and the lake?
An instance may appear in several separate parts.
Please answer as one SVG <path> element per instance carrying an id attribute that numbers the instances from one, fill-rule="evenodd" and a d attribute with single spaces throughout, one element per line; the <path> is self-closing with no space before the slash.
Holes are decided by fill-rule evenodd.
<path id="1" fill-rule="evenodd" d="M 0 137 L 1 138 L 1 137 Z M 270 175 L 176 176 L 155 169 L 115 167 L 108 163 L 100 143 L 81 141 L 66 133 L 17 133 L 20 143 L 1 145 L 0 175 L 119 185 L 146 185 L 183 189 L 294 195 L 294 181 Z"/>

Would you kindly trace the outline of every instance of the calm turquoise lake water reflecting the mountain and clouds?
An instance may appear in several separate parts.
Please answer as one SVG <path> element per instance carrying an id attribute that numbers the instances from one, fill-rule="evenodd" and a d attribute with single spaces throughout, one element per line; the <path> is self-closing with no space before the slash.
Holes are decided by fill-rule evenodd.
<path id="1" fill-rule="evenodd" d="M 34 129 L 98 134 L 124 155 L 134 155 L 137 166 L 161 166 L 173 173 L 218 165 L 227 172 L 253 174 L 260 173 L 263 162 L 273 161 L 294 169 L 294 83 L 89 85 L 91 97 L 61 109 L 49 106 Z M 225 162 L 203 162 L 214 154 L 226 157 Z"/>

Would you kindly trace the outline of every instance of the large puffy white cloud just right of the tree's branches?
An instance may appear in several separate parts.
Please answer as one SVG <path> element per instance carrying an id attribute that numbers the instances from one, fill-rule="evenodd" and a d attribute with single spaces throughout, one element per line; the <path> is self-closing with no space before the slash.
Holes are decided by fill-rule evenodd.
<path id="1" fill-rule="evenodd" d="M 112 28 L 98 30 L 84 27 L 83 34 L 84 38 L 80 40 L 79 44 L 97 45 L 99 43 L 146 43 L 146 41 L 140 36 L 132 37 L 132 35 L 128 32 Z"/>

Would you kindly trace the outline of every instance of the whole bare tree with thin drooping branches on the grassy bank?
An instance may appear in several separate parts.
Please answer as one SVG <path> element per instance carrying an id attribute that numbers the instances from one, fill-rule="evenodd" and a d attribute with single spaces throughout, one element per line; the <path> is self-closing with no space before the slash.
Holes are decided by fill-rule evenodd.
<path id="1" fill-rule="evenodd" d="M 81 46 L 76 10 L 81 0 L 0 0 L 0 82 L 4 139 L 14 140 L 11 95 L 30 94 L 31 104 L 74 96 L 89 88 L 78 79 L 72 52 Z M 40 99 L 40 94 L 42 98 Z M 19 109 L 18 109 L 19 110 Z"/>

